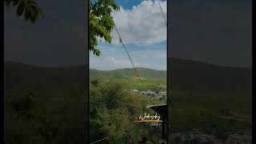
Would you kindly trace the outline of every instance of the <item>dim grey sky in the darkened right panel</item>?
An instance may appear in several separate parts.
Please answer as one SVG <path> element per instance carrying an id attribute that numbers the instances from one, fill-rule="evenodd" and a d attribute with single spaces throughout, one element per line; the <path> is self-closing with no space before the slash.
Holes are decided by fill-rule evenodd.
<path id="1" fill-rule="evenodd" d="M 251 0 L 171 0 L 168 57 L 252 65 Z"/>

